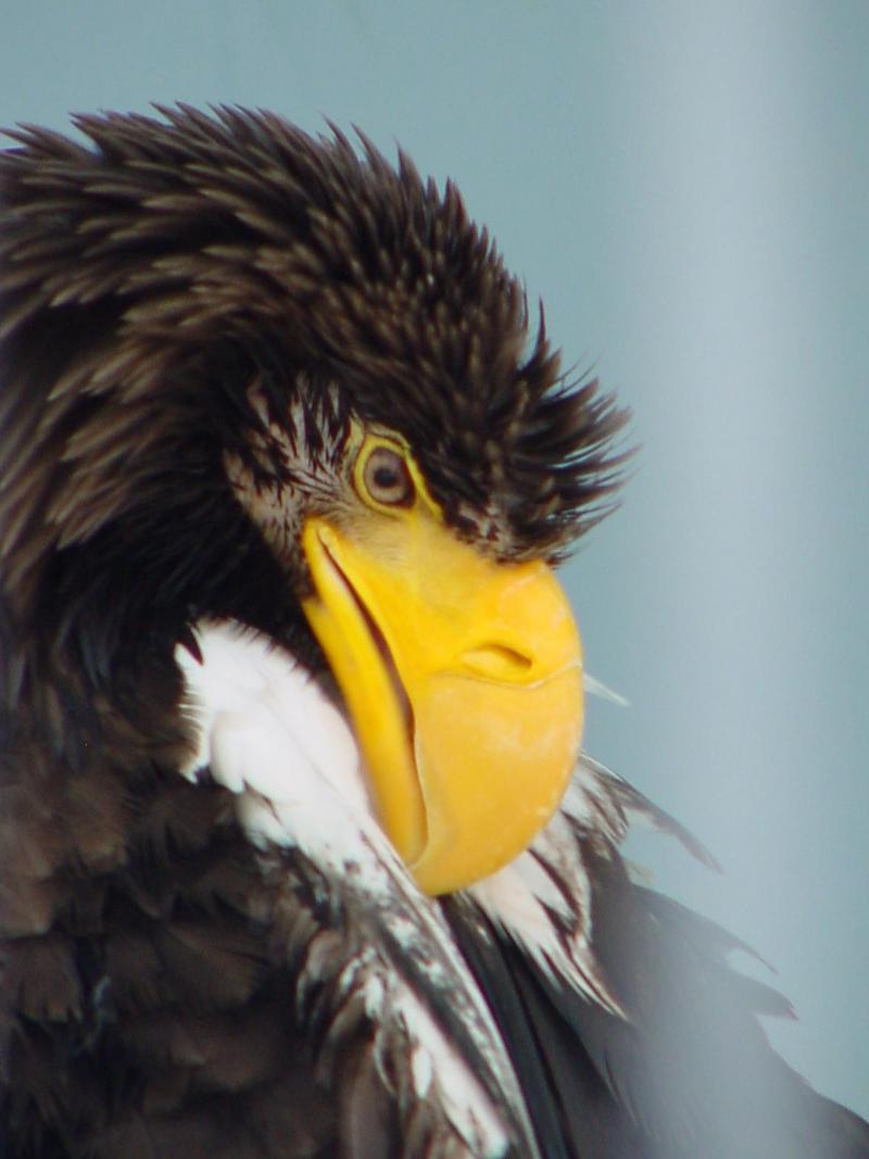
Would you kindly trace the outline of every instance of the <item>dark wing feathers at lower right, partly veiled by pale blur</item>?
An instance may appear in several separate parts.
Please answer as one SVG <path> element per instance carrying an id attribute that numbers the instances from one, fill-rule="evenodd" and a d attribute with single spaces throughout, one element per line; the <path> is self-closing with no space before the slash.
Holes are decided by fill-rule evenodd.
<path id="1" fill-rule="evenodd" d="M 737 939 L 634 884 L 612 848 L 590 863 L 589 880 L 593 953 L 625 1018 L 541 972 L 473 903 L 446 903 L 516 1059 L 543 1154 L 869 1156 L 869 1124 L 818 1095 L 769 1047 L 758 1015 L 790 1016 L 790 1006 L 731 968 Z"/>

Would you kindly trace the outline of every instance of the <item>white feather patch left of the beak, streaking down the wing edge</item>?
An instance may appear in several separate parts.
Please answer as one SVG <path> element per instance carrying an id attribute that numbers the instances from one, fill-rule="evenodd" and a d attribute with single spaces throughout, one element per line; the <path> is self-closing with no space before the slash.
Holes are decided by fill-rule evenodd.
<path id="1" fill-rule="evenodd" d="M 182 646 L 175 653 L 185 680 L 182 708 L 196 732 L 182 775 L 196 780 L 209 767 L 236 795 L 239 822 L 255 845 L 300 848 L 414 955 L 417 972 L 461 1018 L 518 1121 L 527 1122 L 512 1064 L 439 907 L 417 890 L 377 823 L 341 713 L 262 636 L 204 622 L 196 639 L 202 663 Z M 409 904 L 396 905 L 402 901 Z M 364 975 L 382 1040 L 375 1047 L 406 1044 L 416 1098 L 441 1108 L 469 1154 L 503 1154 L 507 1134 L 491 1099 L 388 955 L 366 956 L 355 971 Z"/>

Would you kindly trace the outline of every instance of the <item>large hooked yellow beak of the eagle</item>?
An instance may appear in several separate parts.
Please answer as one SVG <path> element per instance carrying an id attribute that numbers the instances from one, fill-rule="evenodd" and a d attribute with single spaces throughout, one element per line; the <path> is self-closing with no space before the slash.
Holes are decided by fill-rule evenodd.
<path id="1" fill-rule="evenodd" d="M 311 518 L 304 602 L 344 695 L 381 824 L 419 888 L 506 865 L 555 811 L 583 722 L 570 608 L 426 510 Z"/>

